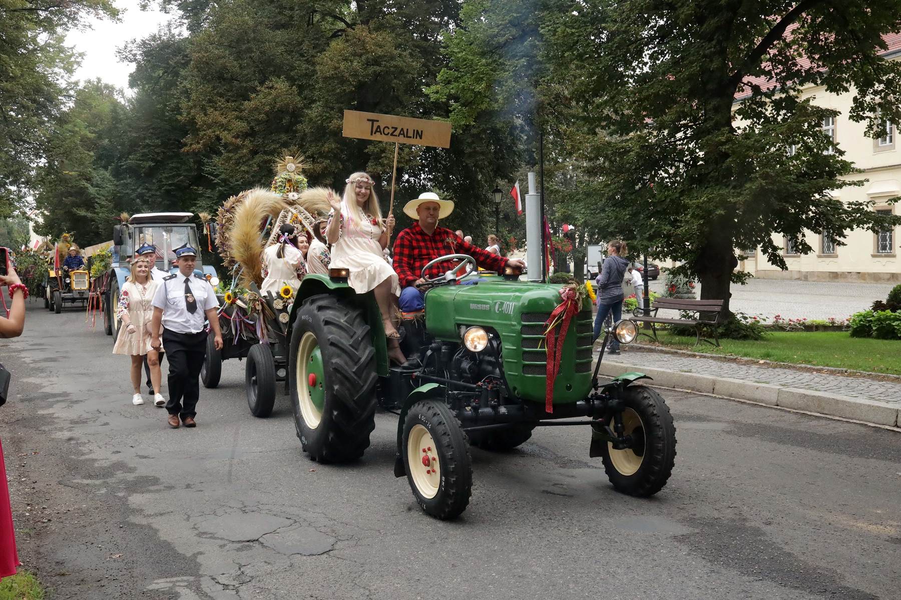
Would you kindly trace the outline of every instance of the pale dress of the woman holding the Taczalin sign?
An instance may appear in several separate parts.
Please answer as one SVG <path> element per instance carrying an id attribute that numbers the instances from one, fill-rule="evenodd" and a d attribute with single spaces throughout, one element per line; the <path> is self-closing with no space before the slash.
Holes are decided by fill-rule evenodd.
<path id="1" fill-rule="evenodd" d="M 329 222 L 333 217 L 330 215 Z M 359 206 L 349 207 L 347 202 L 341 204 L 341 237 L 332 245 L 332 269 L 350 269 L 348 283 L 358 294 L 374 290 L 379 283 L 390 279 L 391 292 L 399 296 L 397 273 L 385 262 L 382 246 L 378 243 L 382 228 L 373 220 Z"/>

